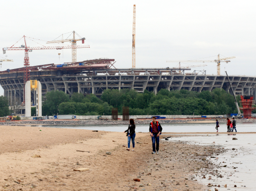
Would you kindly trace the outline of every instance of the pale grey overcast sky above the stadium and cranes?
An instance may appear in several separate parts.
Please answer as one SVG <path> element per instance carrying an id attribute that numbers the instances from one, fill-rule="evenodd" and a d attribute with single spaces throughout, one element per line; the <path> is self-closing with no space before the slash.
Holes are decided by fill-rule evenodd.
<path id="1" fill-rule="evenodd" d="M 0 48 L 12 46 L 23 35 L 48 41 L 75 31 L 90 45 L 77 49 L 77 61 L 108 57 L 115 59 L 117 68 L 131 68 L 134 4 L 136 67 L 175 67 L 166 61 L 214 60 L 220 54 L 236 56 L 221 65 L 221 74 L 227 70 L 230 75 L 256 75 L 253 0 L 0 0 Z M 30 47 L 40 46 L 37 43 L 27 40 Z M 22 44 L 21 39 L 15 46 Z M 23 67 L 24 51 L 0 51 L 0 57 L 14 61 L 2 63 L 2 70 Z M 71 49 L 34 50 L 29 60 L 30 65 L 71 62 Z M 216 74 L 216 63 L 207 64 L 192 69 Z"/>

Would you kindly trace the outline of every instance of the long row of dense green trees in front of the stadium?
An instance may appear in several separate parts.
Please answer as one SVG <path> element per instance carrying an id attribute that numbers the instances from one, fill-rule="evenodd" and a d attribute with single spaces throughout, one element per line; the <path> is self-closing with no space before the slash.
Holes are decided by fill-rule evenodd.
<path id="1" fill-rule="evenodd" d="M 237 96 L 237 101 L 241 100 Z M 240 102 L 239 102 L 240 104 Z M 111 115 L 112 108 L 129 107 L 130 115 L 223 115 L 237 113 L 235 99 L 224 89 L 188 91 L 161 89 L 157 95 L 145 90 L 138 93 L 131 89 L 106 89 L 101 99 L 94 94 L 84 96 L 73 93 L 71 97 L 62 91 L 46 94 L 42 105 L 43 115 Z"/>

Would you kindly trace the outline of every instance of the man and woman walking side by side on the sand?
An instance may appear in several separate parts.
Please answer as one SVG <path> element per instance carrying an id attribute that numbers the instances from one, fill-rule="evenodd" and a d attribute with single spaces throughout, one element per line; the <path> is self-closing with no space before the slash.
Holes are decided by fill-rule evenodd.
<path id="1" fill-rule="evenodd" d="M 149 132 L 152 139 L 152 147 L 153 152 L 152 154 L 159 154 L 159 136 L 162 133 L 162 127 L 158 121 L 155 120 L 155 116 L 152 117 L 152 122 L 149 124 Z M 130 124 L 128 126 L 128 129 L 124 131 L 124 133 L 127 133 L 126 136 L 128 136 L 128 148 L 126 150 L 130 151 L 130 142 L 132 140 L 133 149 L 132 151 L 135 151 L 135 123 L 134 119 L 130 119 Z M 155 147 L 156 144 L 156 147 Z"/>

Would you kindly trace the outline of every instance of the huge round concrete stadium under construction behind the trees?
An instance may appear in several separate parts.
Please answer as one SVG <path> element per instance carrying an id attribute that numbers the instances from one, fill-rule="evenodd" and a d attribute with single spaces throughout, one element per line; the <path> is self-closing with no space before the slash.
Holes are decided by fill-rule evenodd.
<path id="1" fill-rule="evenodd" d="M 101 96 L 105 89 L 160 89 L 189 91 L 211 91 L 215 88 L 232 93 L 227 76 L 207 75 L 206 70 L 190 71 L 182 68 L 133 68 L 117 69 L 115 59 L 100 58 L 77 63 L 60 65 L 44 64 L 29 66 L 31 80 L 38 80 L 42 85 L 42 97 L 52 90 L 69 94 L 79 92 L 84 95 Z M 0 85 L 9 102 L 14 99 L 24 101 L 24 68 L 0 72 Z M 256 76 L 230 76 L 229 79 L 236 95 L 252 96 L 256 100 Z M 35 93 L 31 94 L 31 104 L 35 104 Z M 15 101 L 17 102 L 17 101 Z"/>

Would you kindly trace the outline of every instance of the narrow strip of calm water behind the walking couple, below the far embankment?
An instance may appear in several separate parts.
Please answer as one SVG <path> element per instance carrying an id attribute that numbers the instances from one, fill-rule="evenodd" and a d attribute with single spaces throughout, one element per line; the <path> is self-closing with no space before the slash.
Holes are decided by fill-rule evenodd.
<path id="1" fill-rule="evenodd" d="M 31 127 L 57 127 L 57 128 L 75 128 L 99 131 L 123 132 L 128 125 L 30 125 Z M 162 124 L 163 133 L 186 133 L 186 132 L 216 132 L 216 123 L 173 123 Z M 256 132 L 256 123 L 238 123 L 237 132 Z M 149 124 L 137 124 L 136 132 L 149 132 Z M 227 132 L 227 126 L 220 123 L 219 132 Z"/>

